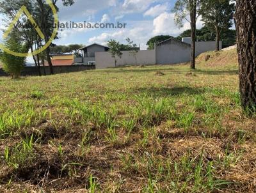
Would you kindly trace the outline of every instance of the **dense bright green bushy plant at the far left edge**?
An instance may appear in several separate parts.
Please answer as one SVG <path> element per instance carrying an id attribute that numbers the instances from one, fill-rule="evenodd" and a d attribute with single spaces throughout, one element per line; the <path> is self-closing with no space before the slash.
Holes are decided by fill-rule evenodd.
<path id="1" fill-rule="evenodd" d="M 26 45 L 22 46 L 22 43 L 15 31 L 10 33 L 7 40 L 4 42 L 4 46 L 13 52 L 23 53 L 25 50 L 28 50 Z M 19 79 L 20 73 L 24 68 L 26 58 L 13 56 L 7 52 L 3 52 L 0 59 L 3 63 L 3 70 L 12 75 L 13 79 Z"/>

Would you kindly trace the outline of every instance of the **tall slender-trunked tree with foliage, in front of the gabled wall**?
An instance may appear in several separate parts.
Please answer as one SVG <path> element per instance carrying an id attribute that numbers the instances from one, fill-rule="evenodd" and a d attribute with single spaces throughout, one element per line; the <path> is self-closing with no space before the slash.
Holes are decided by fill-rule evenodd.
<path id="1" fill-rule="evenodd" d="M 177 0 L 173 8 L 175 12 L 175 23 L 182 27 L 183 21 L 187 20 L 191 28 L 191 68 L 195 69 L 196 58 L 196 20 L 200 15 L 201 0 Z M 187 17 L 189 16 L 190 19 Z"/>

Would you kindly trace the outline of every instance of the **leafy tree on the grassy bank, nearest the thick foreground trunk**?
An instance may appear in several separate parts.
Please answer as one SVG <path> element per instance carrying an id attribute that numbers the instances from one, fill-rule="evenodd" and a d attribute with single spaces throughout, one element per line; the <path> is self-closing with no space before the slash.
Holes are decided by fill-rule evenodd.
<path id="1" fill-rule="evenodd" d="M 220 50 L 220 35 L 232 27 L 235 4 L 230 0 L 201 0 L 200 14 L 205 26 L 216 33 L 216 51 Z"/>

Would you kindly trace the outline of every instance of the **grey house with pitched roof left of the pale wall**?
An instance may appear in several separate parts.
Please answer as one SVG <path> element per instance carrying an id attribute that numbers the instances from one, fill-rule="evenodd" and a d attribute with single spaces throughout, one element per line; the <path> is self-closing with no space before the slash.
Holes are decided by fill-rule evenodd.
<path id="1" fill-rule="evenodd" d="M 82 52 L 81 58 L 75 58 L 76 65 L 92 65 L 95 64 L 95 52 L 108 52 L 109 47 L 93 43 L 80 49 Z"/>

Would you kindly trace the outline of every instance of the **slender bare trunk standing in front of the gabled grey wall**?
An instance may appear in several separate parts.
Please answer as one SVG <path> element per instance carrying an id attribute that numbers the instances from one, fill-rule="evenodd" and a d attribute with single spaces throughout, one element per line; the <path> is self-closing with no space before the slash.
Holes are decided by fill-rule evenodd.
<path id="1" fill-rule="evenodd" d="M 191 69 L 196 68 L 196 6 L 194 0 L 189 0 L 190 11 L 190 26 L 191 26 Z"/>

